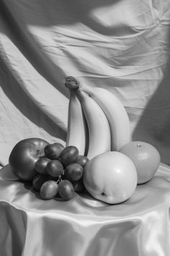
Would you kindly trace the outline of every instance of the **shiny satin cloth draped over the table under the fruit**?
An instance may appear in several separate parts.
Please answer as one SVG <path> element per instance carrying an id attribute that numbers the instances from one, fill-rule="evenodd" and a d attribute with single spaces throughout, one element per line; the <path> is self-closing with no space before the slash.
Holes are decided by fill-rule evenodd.
<path id="1" fill-rule="evenodd" d="M 41 200 L 9 166 L 0 171 L 0 255 L 168 256 L 170 168 L 117 205 L 76 194 Z"/>

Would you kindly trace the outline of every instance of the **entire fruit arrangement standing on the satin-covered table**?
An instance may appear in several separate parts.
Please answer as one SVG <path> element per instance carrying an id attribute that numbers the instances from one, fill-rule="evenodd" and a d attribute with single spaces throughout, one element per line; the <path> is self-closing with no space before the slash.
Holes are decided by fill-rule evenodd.
<path id="1" fill-rule="evenodd" d="M 66 77 L 70 91 L 66 147 L 38 138 L 14 146 L 9 165 L 30 181 L 43 199 L 64 200 L 86 188 L 109 204 L 128 200 L 138 184 L 158 170 L 158 150 L 146 142 L 130 141 L 130 120 L 120 100 L 109 90 L 88 87 Z"/>

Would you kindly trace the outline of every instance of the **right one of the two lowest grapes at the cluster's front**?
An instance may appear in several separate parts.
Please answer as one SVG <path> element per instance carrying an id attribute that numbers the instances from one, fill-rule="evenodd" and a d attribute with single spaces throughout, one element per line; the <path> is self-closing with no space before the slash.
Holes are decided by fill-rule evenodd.
<path id="1" fill-rule="evenodd" d="M 67 179 L 63 179 L 58 184 L 58 193 L 64 200 L 70 200 L 74 195 L 74 189 L 71 182 Z"/>

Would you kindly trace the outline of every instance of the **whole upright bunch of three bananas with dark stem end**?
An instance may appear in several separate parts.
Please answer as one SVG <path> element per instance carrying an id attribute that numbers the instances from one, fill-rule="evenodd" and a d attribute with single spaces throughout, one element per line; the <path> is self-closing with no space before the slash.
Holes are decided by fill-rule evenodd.
<path id="1" fill-rule="evenodd" d="M 75 77 L 66 77 L 65 86 L 70 90 L 66 146 L 76 146 L 91 159 L 130 141 L 128 114 L 114 94 L 81 85 Z"/>

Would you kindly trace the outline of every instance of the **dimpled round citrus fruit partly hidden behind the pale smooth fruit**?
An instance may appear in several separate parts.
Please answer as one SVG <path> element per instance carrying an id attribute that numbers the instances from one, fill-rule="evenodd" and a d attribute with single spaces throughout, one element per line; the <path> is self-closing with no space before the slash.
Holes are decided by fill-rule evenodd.
<path id="1" fill-rule="evenodd" d="M 153 145 L 142 142 L 128 142 L 120 150 L 127 155 L 135 164 L 138 174 L 138 184 L 148 182 L 156 174 L 161 162 L 161 156 Z"/>

